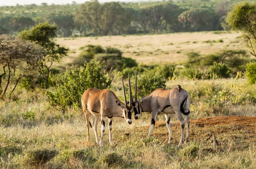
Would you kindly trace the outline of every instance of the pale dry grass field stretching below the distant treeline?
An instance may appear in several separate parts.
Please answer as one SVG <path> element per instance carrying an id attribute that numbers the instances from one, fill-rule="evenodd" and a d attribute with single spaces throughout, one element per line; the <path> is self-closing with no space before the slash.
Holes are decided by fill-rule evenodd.
<path id="1" fill-rule="evenodd" d="M 77 38 L 57 38 L 56 42 L 67 46 L 75 54 L 70 54 L 64 59 L 65 63 L 70 63 L 75 59 L 79 47 L 85 45 L 111 46 L 123 51 L 123 56 L 136 59 L 139 63 L 160 63 L 179 62 L 186 59 L 186 52 L 200 51 L 201 54 L 211 54 L 224 49 L 246 49 L 244 44 L 237 37 L 241 33 L 231 32 L 214 34 L 213 32 L 195 33 L 175 33 L 160 35 L 128 35 L 105 36 L 105 37 L 77 37 Z M 217 43 L 222 39 L 223 43 Z M 216 42 L 205 42 L 215 40 Z M 173 44 L 173 45 L 172 45 Z"/>

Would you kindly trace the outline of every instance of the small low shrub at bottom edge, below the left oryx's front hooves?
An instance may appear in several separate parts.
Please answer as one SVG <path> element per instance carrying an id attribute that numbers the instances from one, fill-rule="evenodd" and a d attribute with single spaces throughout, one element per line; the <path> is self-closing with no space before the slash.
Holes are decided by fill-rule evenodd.
<path id="1" fill-rule="evenodd" d="M 117 164 L 123 163 L 123 158 L 121 155 L 116 154 L 115 152 L 103 154 L 99 157 L 98 163 L 107 164 L 108 167 L 115 166 Z"/>

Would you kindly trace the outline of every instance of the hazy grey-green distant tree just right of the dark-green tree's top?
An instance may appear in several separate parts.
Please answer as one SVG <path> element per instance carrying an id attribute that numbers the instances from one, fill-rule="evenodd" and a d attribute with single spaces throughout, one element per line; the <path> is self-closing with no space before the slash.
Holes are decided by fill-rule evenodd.
<path id="1" fill-rule="evenodd" d="M 54 17 L 52 17 L 52 20 L 56 25 L 58 25 L 58 28 L 62 31 L 63 37 L 70 37 L 72 36 L 73 29 L 75 28 L 74 25 L 74 15 L 73 14 L 57 14 Z"/>

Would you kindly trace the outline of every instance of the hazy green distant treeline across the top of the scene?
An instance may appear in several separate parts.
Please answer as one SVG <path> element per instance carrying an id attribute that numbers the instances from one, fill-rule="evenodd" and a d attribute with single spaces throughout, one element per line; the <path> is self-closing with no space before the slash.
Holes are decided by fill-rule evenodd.
<path id="1" fill-rule="evenodd" d="M 239 0 L 177 0 L 142 3 L 48 5 L 42 3 L 0 7 L 0 34 L 16 34 L 49 20 L 58 34 L 101 36 L 227 30 L 225 18 Z"/>

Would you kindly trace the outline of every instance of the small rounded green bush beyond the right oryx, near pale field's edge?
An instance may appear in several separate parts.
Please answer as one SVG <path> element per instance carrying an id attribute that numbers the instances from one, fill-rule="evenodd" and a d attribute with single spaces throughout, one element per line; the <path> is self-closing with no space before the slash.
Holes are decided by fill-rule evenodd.
<path id="1" fill-rule="evenodd" d="M 221 78 L 228 78 L 230 70 L 225 64 L 215 63 L 209 67 L 209 73 L 220 76 Z"/>

